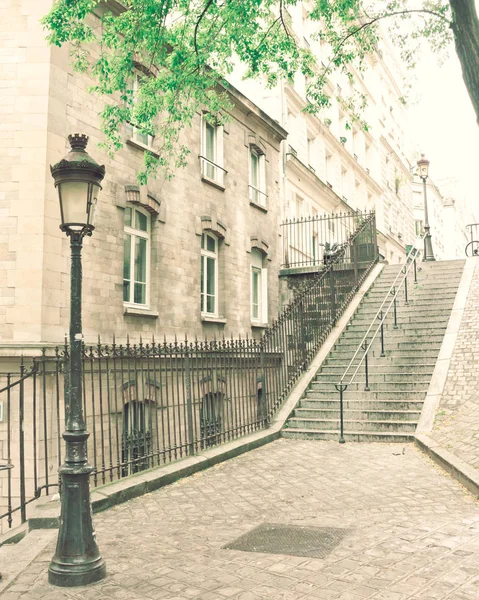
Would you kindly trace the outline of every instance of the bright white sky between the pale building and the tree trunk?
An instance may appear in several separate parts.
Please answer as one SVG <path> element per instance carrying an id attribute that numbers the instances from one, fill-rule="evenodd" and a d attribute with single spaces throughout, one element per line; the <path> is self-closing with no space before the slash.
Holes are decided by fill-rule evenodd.
<path id="1" fill-rule="evenodd" d="M 429 158 L 443 194 L 465 197 L 479 220 L 479 125 L 454 49 L 442 66 L 425 52 L 415 75 L 419 100 L 409 111 L 413 149 Z"/>

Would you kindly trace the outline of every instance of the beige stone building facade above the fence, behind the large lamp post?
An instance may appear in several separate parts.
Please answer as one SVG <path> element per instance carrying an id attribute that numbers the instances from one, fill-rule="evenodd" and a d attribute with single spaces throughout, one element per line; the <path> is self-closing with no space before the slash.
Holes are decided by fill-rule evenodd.
<path id="1" fill-rule="evenodd" d="M 214 148 L 205 149 L 210 126 L 197 114 L 184 132 L 187 167 L 171 182 L 138 186 L 143 154 L 154 151 L 156 140 L 125 127 L 114 158 L 98 149 L 100 100 L 88 92 L 88 75 L 72 71 L 68 48 L 47 45 L 39 19 L 50 6 L 50 0 L 12 2 L 1 21 L 3 352 L 61 342 L 68 328 L 69 247 L 58 229 L 49 165 L 66 154 L 74 132 L 89 136 L 87 150 L 106 167 L 96 230 L 83 250 L 87 341 L 113 334 L 260 335 L 277 312 L 279 152 L 286 131 L 231 86 L 227 123 L 209 132 Z M 213 161 L 206 152 L 214 152 Z M 263 178 L 257 192 L 253 154 Z M 133 264 L 135 252 L 143 264 Z"/>

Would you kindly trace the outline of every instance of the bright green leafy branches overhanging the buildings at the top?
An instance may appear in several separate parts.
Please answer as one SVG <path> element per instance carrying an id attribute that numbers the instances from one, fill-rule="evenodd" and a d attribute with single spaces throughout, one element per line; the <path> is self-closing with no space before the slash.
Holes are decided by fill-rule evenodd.
<path id="1" fill-rule="evenodd" d="M 115 152 L 122 146 L 125 122 L 160 140 L 157 156 L 145 153 L 142 181 L 158 169 L 171 176 L 185 164 L 188 149 L 180 134 L 197 111 L 225 118 L 225 81 L 238 61 L 246 66 L 247 77 L 261 77 L 271 87 L 279 78 L 292 80 L 303 73 L 306 110 L 314 113 L 330 104 L 327 81 L 333 71 L 354 81 L 353 70 L 364 69 L 367 57 L 380 51 L 381 26 L 383 33 L 388 28 L 410 66 L 422 41 L 441 51 L 454 38 L 463 72 L 461 53 L 476 61 L 471 80 L 464 78 L 473 103 L 477 96 L 479 117 L 479 87 L 471 90 L 474 66 L 479 74 L 474 0 L 311 0 L 305 3 L 310 35 L 329 49 L 322 62 L 292 28 L 290 11 L 297 4 L 299 0 L 57 0 L 44 24 L 50 43 L 68 42 L 75 69 L 89 72 L 95 81 L 92 92 L 104 97 L 106 147 Z M 467 31 L 461 19 L 469 21 Z M 476 55 L 471 57 L 474 44 Z M 135 69 L 146 76 L 138 79 L 134 92 Z M 340 101 L 353 120 L 361 119 L 365 97 Z"/>

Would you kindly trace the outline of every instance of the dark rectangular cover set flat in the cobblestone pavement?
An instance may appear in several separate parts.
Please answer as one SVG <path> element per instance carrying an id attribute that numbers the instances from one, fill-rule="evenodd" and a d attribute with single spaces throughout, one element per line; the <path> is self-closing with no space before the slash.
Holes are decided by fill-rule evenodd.
<path id="1" fill-rule="evenodd" d="M 351 532 L 337 527 L 302 527 L 265 523 L 223 548 L 325 558 Z"/>

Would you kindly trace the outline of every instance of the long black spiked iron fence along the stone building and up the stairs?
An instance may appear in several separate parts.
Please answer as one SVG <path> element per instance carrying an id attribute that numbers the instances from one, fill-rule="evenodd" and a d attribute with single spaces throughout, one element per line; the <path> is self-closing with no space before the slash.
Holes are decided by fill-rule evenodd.
<path id="1" fill-rule="evenodd" d="M 268 426 L 377 260 L 374 214 L 260 340 L 85 346 L 83 409 L 92 486 Z M 68 347 L 0 374 L 0 525 L 58 487 Z"/>

